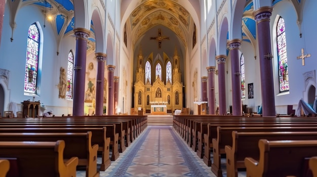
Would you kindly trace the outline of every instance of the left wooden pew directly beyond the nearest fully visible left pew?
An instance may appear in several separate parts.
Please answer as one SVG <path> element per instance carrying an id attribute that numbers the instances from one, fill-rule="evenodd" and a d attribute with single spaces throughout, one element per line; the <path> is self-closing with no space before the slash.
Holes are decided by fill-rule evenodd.
<path id="1" fill-rule="evenodd" d="M 78 166 L 86 166 L 86 177 L 99 176 L 98 145 L 91 144 L 92 132 L 87 133 L 0 133 L 0 141 L 58 141 L 65 142 L 63 157 L 78 157 Z M 110 165 L 110 163 L 108 164 Z"/>

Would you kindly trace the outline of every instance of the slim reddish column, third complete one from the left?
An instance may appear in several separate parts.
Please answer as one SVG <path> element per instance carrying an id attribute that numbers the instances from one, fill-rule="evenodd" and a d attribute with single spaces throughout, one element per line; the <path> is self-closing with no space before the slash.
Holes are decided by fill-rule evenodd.
<path id="1" fill-rule="evenodd" d="M 113 83 L 113 73 L 115 66 L 108 65 L 108 101 L 107 101 L 107 115 L 113 115 L 113 94 L 114 94 L 114 83 Z"/>

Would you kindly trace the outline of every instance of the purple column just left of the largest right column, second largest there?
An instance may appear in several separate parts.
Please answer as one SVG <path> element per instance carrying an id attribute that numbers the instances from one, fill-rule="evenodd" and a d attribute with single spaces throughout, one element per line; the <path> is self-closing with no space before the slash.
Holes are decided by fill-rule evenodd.
<path id="1" fill-rule="evenodd" d="M 232 87 L 232 115 L 242 115 L 241 102 L 241 71 L 239 50 L 241 39 L 232 39 L 227 42 L 231 59 L 231 87 Z"/>

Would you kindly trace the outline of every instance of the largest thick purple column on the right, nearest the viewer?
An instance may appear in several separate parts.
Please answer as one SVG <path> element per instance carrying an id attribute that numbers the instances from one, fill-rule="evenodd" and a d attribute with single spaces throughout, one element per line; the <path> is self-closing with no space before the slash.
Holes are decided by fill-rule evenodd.
<path id="1" fill-rule="evenodd" d="M 270 16 L 272 7 L 261 7 L 253 12 L 257 23 L 257 38 L 260 60 L 262 115 L 275 116 L 275 95 L 272 69 Z"/>

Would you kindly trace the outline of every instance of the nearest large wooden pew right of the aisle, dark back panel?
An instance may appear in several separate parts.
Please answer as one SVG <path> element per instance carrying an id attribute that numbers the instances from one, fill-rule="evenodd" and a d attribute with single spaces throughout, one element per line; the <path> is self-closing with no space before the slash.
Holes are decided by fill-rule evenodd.
<path id="1" fill-rule="evenodd" d="M 248 177 L 301 176 L 304 158 L 317 155 L 317 140 L 259 141 L 259 160 L 245 158 Z"/>

